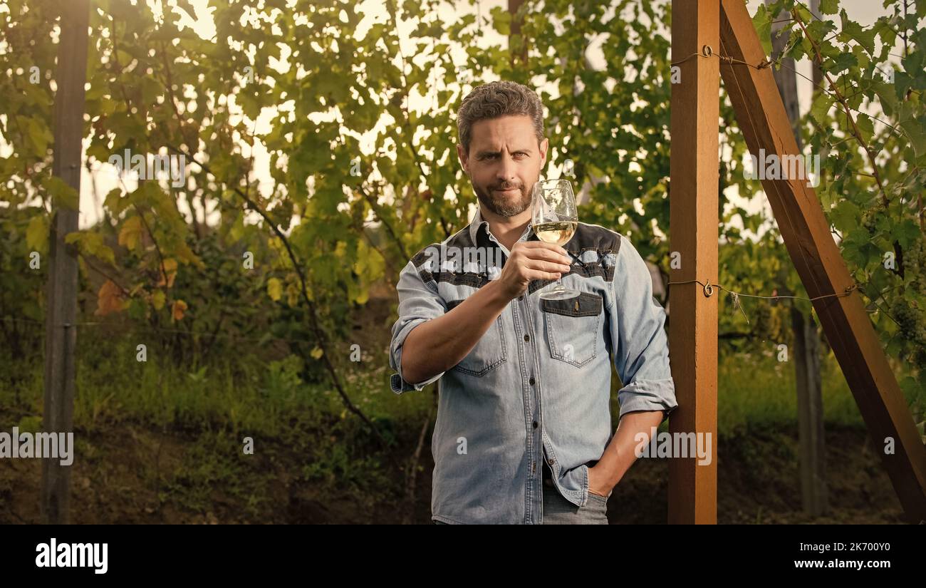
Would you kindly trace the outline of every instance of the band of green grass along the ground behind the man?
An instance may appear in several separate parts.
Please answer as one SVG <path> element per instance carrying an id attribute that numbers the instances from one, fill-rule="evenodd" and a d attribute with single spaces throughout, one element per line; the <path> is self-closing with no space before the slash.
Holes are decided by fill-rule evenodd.
<path id="1" fill-rule="evenodd" d="M 303 382 L 303 362 L 294 355 L 262 360 L 255 354 L 242 354 L 182 369 L 156 349 L 147 350 L 145 362 L 137 361 L 136 354 L 128 339 L 81 345 L 75 426 L 94 432 L 129 419 L 161 430 L 222 430 L 282 438 L 294 425 L 311 430 L 332 420 L 355 419 L 332 386 Z M 17 421 L 8 426 L 24 419 L 24 425 L 34 428 L 35 419 L 42 415 L 41 361 L 35 357 L 31 363 L 3 369 L 6 377 L 0 375 L 0 407 L 18 414 Z M 394 394 L 384 351 L 377 356 L 365 353 L 361 362 L 345 361 L 343 366 L 339 375 L 346 394 L 370 419 L 387 430 L 396 422 L 423 423 L 434 402 L 433 386 Z M 910 375 L 904 366 L 896 369 L 898 381 Z M 821 370 L 824 421 L 864 426 L 832 353 L 823 357 Z M 19 374 L 16 384 L 10 382 L 14 373 Z M 722 355 L 718 382 L 718 424 L 723 434 L 796 419 L 793 361 L 778 361 L 771 351 Z M 618 387 L 615 382 L 614 391 Z M 914 401 L 908 393 L 907 403 Z"/>

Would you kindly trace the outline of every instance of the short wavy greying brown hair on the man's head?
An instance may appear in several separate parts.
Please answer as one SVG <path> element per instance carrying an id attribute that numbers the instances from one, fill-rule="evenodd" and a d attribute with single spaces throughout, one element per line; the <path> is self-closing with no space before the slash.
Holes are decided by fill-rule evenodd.
<path id="1" fill-rule="evenodd" d="M 544 105 L 532 89 L 517 81 L 505 80 L 491 81 L 473 88 L 463 98 L 457 111 L 457 135 L 463 149 L 469 153 L 474 123 L 509 115 L 531 117 L 537 144 L 544 140 Z"/>

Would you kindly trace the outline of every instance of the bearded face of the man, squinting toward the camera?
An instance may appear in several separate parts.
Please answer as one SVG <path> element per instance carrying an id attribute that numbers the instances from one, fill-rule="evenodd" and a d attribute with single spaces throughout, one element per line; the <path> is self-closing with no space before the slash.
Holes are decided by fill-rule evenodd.
<path id="1" fill-rule="evenodd" d="M 531 117 L 507 116 L 473 124 L 469 153 L 457 144 L 457 155 L 482 206 L 514 217 L 531 206 L 548 144 L 544 139 L 537 145 Z"/>

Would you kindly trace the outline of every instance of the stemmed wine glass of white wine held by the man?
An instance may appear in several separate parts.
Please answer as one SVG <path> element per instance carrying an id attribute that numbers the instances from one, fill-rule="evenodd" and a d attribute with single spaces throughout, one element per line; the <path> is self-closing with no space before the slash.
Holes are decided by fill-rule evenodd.
<path id="1" fill-rule="evenodd" d="M 579 225 L 576 199 L 569 180 L 538 180 L 532 191 L 532 228 L 544 243 L 560 247 L 569 239 Z M 578 296 L 578 290 L 563 287 L 562 278 L 552 290 L 540 293 L 544 300 L 565 300 Z"/>

